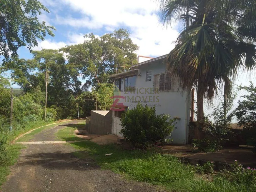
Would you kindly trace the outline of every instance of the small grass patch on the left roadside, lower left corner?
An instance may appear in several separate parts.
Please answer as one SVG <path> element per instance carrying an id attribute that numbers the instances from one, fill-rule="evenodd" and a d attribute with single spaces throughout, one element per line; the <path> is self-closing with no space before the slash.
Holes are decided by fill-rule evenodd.
<path id="1" fill-rule="evenodd" d="M 8 161 L 0 165 L 0 186 L 6 181 L 6 176 L 10 173 L 10 166 L 16 163 L 22 148 L 24 148 L 24 146 L 21 144 L 7 146 L 6 153 Z"/>

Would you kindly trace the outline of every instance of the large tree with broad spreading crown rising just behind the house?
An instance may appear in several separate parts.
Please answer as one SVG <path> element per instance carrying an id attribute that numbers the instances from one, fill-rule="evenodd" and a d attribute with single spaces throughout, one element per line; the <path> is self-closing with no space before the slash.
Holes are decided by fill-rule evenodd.
<path id="1" fill-rule="evenodd" d="M 84 37 L 83 44 L 67 46 L 61 51 L 68 54 L 70 63 L 82 65 L 81 74 L 84 79 L 88 79 L 86 86 L 106 83 L 108 75 L 116 71 L 117 65 L 131 66 L 132 62 L 128 61 L 137 58 L 134 51 L 139 47 L 132 43 L 125 29 L 101 37 L 94 34 Z"/>

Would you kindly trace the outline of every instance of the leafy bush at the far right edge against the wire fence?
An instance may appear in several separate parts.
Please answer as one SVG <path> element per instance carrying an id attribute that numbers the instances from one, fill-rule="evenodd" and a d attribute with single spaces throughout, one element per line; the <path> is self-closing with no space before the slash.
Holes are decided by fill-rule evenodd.
<path id="1" fill-rule="evenodd" d="M 239 87 L 246 90 L 249 95 L 242 96 L 243 101 L 238 101 L 238 107 L 235 109 L 238 126 L 243 127 L 243 133 L 248 145 L 256 147 L 256 87 L 250 81 L 250 86 Z"/>

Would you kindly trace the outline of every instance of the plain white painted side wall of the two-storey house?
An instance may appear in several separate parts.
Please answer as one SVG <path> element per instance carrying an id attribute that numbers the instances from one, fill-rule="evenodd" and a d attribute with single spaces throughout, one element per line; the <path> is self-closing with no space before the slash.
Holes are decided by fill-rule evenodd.
<path id="1" fill-rule="evenodd" d="M 135 108 L 137 101 L 140 100 L 142 105 L 147 104 L 149 106 L 155 106 L 157 114 L 164 113 L 169 114 L 172 118 L 177 117 L 175 124 L 177 128 L 172 132 L 171 138 L 173 138 L 174 143 L 185 144 L 187 143 L 188 138 L 188 123 L 191 104 L 190 93 L 181 93 L 177 90 L 153 93 L 154 74 L 163 73 L 166 71 L 165 69 L 166 65 L 162 60 L 143 64 L 139 66 L 136 78 L 136 91 L 133 93 L 130 91 L 118 91 L 114 94 L 125 97 L 121 98 L 119 103 L 123 103 L 125 106 L 128 106 L 128 109 Z M 147 70 L 152 70 L 151 81 L 146 81 Z M 122 84 L 121 90 L 124 90 L 124 84 Z"/>

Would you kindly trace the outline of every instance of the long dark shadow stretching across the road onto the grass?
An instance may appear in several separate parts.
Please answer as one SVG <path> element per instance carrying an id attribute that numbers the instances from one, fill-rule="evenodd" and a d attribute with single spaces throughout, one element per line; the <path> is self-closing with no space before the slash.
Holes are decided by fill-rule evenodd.
<path id="1" fill-rule="evenodd" d="M 47 145 L 47 144 L 43 144 Z M 33 153 L 22 156 L 19 166 L 40 165 L 50 169 L 99 169 L 99 166 L 108 165 L 121 160 L 136 158 L 147 158 L 141 151 L 120 150 L 120 146 L 105 145 L 100 146 L 91 141 L 71 143 L 77 148 L 75 152 L 54 151 L 49 153 Z M 112 153 L 106 156 L 105 154 Z"/>

